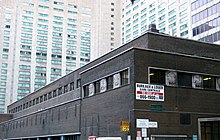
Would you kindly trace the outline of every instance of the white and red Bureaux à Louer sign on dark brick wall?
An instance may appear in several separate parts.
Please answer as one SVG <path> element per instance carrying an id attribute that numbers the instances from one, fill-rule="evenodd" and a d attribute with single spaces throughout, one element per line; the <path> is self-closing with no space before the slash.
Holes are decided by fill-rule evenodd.
<path id="1" fill-rule="evenodd" d="M 164 86 L 136 83 L 136 100 L 164 101 Z"/>

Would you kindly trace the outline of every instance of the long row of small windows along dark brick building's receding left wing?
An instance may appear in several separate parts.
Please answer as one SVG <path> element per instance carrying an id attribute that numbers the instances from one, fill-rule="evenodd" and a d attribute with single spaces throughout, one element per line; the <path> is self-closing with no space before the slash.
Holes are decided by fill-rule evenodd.
<path id="1" fill-rule="evenodd" d="M 81 86 L 81 81 L 80 81 L 80 79 L 78 79 L 77 84 L 76 84 L 76 88 L 79 88 L 80 86 Z M 74 90 L 74 82 L 69 83 L 69 84 L 67 84 L 63 87 L 59 87 L 58 89 L 55 89 L 55 90 L 53 90 L 53 91 L 51 91 L 47 94 L 41 95 L 40 97 L 37 97 L 37 98 L 35 98 L 33 100 L 30 100 L 30 101 L 28 101 L 28 102 L 26 102 L 26 103 L 24 103 L 20 106 L 17 106 L 15 108 L 9 110 L 9 113 L 16 113 L 16 112 L 22 111 L 26 108 L 29 108 L 31 106 L 35 106 L 39 103 L 50 100 L 52 98 L 55 98 L 57 96 L 60 96 L 64 93 L 67 93 L 67 92 L 72 91 L 72 90 Z"/>

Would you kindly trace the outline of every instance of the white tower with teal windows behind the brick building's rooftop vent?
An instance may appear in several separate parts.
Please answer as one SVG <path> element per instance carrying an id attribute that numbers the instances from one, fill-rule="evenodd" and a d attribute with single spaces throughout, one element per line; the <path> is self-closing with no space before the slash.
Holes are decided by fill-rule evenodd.
<path id="1" fill-rule="evenodd" d="M 172 36 L 189 38 L 190 0 L 123 0 L 122 44 L 140 36 L 148 25 Z"/>

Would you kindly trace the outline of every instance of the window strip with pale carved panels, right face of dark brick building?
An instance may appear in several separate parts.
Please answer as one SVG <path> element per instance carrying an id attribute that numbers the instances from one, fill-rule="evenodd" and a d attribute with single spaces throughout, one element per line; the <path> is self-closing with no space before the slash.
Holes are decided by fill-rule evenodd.
<path id="1" fill-rule="evenodd" d="M 161 69 L 150 69 L 150 83 L 167 86 L 202 88 L 220 91 L 220 76 L 210 76 Z"/>

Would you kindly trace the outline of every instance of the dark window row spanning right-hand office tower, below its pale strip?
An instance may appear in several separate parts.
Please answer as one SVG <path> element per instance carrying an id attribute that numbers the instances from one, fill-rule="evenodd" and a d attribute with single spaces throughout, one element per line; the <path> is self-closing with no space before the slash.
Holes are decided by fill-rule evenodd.
<path id="1" fill-rule="evenodd" d="M 193 36 L 196 36 L 198 34 L 201 34 L 205 31 L 208 31 L 212 28 L 216 28 L 219 26 L 220 26 L 220 17 L 210 20 L 209 22 L 206 22 L 202 25 L 193 28 Z"/>

